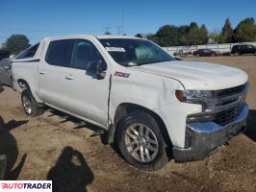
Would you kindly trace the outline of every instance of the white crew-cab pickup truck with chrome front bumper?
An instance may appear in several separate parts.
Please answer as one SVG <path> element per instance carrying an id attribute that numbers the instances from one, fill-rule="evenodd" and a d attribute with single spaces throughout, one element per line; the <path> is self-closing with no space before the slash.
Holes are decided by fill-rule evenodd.
<path id="1" fill-rule="evenodd" d="M 242 70 L 175 60 L 129 36 L 44 38 L 14 58 L 13 85 L 28 115 L 47 106 L 90 122 L 148 171 L 208 156 L 248 114 Z"/>

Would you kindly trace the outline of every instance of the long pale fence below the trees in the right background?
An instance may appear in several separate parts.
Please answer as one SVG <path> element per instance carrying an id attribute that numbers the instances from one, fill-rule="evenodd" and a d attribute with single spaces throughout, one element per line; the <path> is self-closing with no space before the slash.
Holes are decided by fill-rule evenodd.
<path id="1" fill-rule="evenodd" d="M 174 46 L 174 47 L 164 47 L 166 51 L 170 54 L 183 53 L 187 54 L 189 52 L 194 52 L 198 49 L 212 49 L 220 53 L 231 52 L 234 45 L 237 44 L 252 44 L 256 46 L 256 42 L 243 42 L 243 43 L 225 43 L 225 44 L 206 44 L 206 45 L 191 45 L 191 46 Z"/>

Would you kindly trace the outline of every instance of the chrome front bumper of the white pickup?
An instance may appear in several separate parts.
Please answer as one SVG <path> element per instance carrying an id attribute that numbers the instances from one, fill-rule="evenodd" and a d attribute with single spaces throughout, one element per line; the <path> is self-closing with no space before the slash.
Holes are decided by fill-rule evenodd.
<path id="1" fill-rule="evenodd" d="M 239 116 L 225 126 L 219 126 L 214 122 L 188 123 L 186 130 L 191 135 L 191 146 L 189 148 L 173 147 L 172 153 L 175 161 L 199 160 L 208 156 L 219 145 L 245 130 L 247 115 L 248 107 L 244 104 Z"/>

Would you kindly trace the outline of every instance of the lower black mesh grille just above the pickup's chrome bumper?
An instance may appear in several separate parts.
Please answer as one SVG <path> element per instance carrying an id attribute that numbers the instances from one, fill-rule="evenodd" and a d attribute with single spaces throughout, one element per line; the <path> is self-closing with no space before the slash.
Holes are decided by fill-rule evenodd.
<path id="1" fill-rule="evenodd" d="M 241 106 L 237 106 L 218 112 L 214 121 L 221 126 L 231 123 L 240 114 L 241 109 Z"/>

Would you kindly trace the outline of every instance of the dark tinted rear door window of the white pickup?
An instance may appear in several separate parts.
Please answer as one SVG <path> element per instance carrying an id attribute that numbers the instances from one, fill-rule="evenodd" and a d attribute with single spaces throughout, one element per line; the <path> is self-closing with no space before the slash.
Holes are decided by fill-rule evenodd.
<path id="1" fill-rule="evenodd" d="M 56 66 L 69 67 L 73 44 L 73 39 L 51 41 L 45 56 L 46 62 Z"/>

